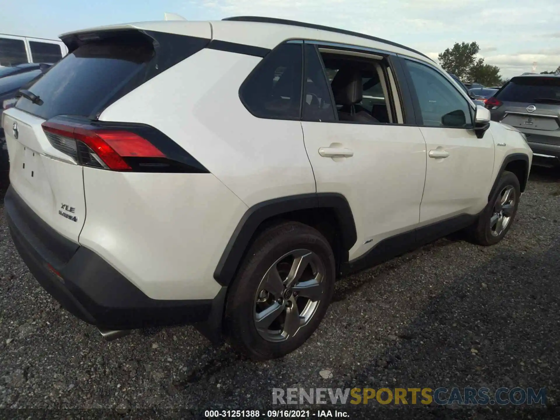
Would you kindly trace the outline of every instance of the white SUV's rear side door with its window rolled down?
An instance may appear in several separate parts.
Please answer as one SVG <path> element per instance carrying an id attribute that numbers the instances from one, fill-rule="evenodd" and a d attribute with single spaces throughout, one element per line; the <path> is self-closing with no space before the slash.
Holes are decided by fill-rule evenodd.
<path id="1" fill-rule="evenodd" d="M 302 127 L 317 192 L 348 200 L 358 234 L 349 258 L 356 259 L 417 226 L 426 143 L 418 127 L 403 124 L 386 57 L 306 41 L 305 69 Z M 346 77 L 350 73 L 356 74 L 353 82 Z M 358 97 L 349 106 L 345 92 L 358 82 Z"/>

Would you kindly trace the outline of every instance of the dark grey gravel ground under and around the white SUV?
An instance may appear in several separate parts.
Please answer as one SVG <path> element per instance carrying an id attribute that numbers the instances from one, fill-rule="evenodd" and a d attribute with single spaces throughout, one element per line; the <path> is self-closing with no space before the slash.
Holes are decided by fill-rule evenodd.
<path id="1" fill-rule="evenodd" d="M 547 407 L 338 408 L 350 418 L 560 418 L 559 181 L 558 172 L 533 168 L 515 225 L 497 246 L 443 239 L 340 281 L 309 342 L 266 363 L 212 347 L 190 326 L 103 342 L 28 272 L 2 201 L 0 417 L 30 413 L 9 410 L 17 408 L 144 418 L 181 409 L 203 418 L 208 408 L 270 408 L 272 388 L 288 387 L 533 386 L 547 388 Z"/>

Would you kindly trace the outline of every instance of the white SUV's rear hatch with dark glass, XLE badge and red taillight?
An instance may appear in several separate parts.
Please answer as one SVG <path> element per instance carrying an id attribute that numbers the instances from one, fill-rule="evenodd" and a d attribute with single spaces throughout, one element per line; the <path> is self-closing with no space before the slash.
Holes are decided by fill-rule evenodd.
<path id="1" fill-rule="evenodd" d="M 125 162 L 142 157 L 134 147 L 161 160 L 134 130 L 92 124 L 107 106 L 204 48 L 211 38 L 206 26 L 195 28 L 197 36 L 130 26 L 63 35 L 69 54 L 4 111 L 12 187 L 60 234 L 78 242 L 85 222 L 83 166 L 134 170 Z"/>

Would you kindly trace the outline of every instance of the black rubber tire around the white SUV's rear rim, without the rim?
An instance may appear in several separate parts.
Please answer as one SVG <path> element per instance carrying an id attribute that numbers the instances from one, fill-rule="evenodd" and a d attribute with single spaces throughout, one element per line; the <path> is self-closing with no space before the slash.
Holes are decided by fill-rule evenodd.
<path id="1" fill-rule="evenodd" d="M 228 297 L 226 314 L 234 332 L 240 340 L 245 353 L 258 359 L 284 356 L 300 347 L 315 331 L 323 319 L 333 295 L 335 262 L 329 242 L 316 230 L 301 223 L 284 225 L 283 234 L 272 240 L 257 240 L 248 253 L 246 264 L 241 268 L 232 285 Z M 286 229 L 288 229 L 286 231 Z M 271 232 L 272 233 L 272 232 Z M 260 248 L 260 249 L 259 249 Z M 254 323 L 254 298 L 257 288 L 267 270 L 282 255 L 295 249 L 309 249 L 316 253 L 325 267 L 324 297 L 315 309 L 307 325 L 298 330 L 295 337 L 279 343 L 268 342 L 262 338 Z"/>

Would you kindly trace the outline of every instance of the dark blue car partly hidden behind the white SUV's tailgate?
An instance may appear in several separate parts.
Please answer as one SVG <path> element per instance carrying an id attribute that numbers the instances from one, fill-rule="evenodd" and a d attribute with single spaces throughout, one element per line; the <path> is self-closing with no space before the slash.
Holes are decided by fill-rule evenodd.
<path id="1" fill-rule="evenodd" d="M 35 64 L 34 64 L 35 66 Z M 11 76 L 0 77 L 0 121 L 4 106 L 10 108 L 15 105 L 15 99 L 21 88 L 28 88 L 40 76 L 42 76 L 50 66 L 48 64 L 36 65 L 36 68 L 24 73 L 11 74 Z M 7 67 L 0 67 L 0 72 Z M 0 125 L 0 184 L 3 186 L 8 183 L 8 171 L 10 164 L 8 160 L 8 150 L 4 129 Z"/>

